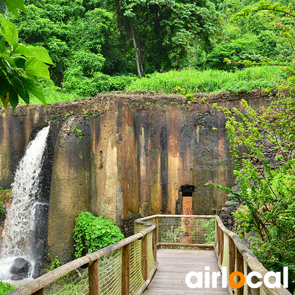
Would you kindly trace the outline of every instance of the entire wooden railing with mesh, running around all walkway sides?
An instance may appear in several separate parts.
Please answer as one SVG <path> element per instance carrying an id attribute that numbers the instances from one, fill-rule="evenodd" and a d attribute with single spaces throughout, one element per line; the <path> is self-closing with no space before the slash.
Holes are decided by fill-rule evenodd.
<path id="1" fill-rule="evenodd" d="M 158 266 L 157 247 L 214 249 L 218 266 L 247 275 L 267 270 L 240 238 L 214 215 L 152 215 L 135 220 L 135 235 L 67 263 L 9 295 L 141 295 Z M 274 278 L 270 277 L 270 282 Z M 255 282 L 254 282 L 255 283 Z M 291 295 L 285 288 L 245 285 L 235 295 Z"/>

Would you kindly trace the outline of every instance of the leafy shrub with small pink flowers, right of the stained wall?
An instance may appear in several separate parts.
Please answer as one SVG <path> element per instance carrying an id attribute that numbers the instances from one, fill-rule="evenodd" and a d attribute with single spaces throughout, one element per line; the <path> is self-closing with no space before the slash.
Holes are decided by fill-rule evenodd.
<path id="1" fill-rule="evenodd" d="M 226 116 L 226 128 L 239 191 L 208 181 L 245 206 L 236 211 L 236 232 L 268 270 L 289 266 L 295 287 L 295 92 L 284 86 L 268 107 L 213 108 Z M 241 153 L 241 147 L 246 152 Z M 270 156 L 267 150 L 271 150 Z"/>

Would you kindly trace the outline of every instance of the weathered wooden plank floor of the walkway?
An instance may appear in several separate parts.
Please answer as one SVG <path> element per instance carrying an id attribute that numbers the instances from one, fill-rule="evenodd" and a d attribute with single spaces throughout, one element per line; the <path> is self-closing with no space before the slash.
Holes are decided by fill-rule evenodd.
<path id="1" fill-rule="evenodd" d="M 185 277 L 190 271 L 204 272 L 205 266 L 210 266 L 210 270 L 207 270 L 210 273 L 219 271 L 214 251 L 158 249 L 157 261 L 157 271 L 144 295 L 229 295 L 228 290 L 221 287 L 221 277 L 217 279 L 217 289 L 190 289 L 186 286 Z M 192 283 L 196 281 L 197 278 L 191 279 Z"/>

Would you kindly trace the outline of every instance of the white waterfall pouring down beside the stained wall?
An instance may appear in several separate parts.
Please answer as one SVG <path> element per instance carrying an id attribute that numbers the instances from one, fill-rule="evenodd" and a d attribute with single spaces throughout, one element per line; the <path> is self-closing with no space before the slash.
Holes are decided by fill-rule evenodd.
<path id="1" fill-rule="evenodd" d="M 46 147 L 49 126 L 38 132 L 29 143 L 20 161 L 12 186 L 12 202 L 7 210 L 0 243 L 0 279 L 9 280 L 9 269 L 17 257 L 28 260 L 32 266 L 32 232 L 35 222 L 36 194 L 40 182 L 42 156 Z M 29 272 L 32 275 L 33 267 Z"/>

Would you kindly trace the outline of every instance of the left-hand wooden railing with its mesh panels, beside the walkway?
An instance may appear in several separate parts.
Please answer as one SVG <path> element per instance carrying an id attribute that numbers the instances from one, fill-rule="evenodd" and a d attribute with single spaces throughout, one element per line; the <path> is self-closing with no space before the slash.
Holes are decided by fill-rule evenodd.
<path id="1" fill-rule="evenodd" d="M 158 265 L 156 239 L 152 238 L 156 225 L 143 227 L 140 233 L 60 266 L 9 295 L 142 294 Z"/>

